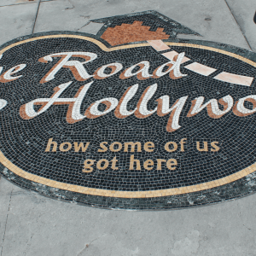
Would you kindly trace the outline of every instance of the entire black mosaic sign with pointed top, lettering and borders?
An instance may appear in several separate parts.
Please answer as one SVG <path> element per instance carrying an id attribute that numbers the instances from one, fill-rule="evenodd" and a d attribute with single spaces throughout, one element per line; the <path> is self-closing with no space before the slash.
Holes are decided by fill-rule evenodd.
<path id="1" fill-rule="evenodd" d="M 155 11 L 0 48 L 0 172 L 64 201 L 169 209 L 256 189 L 256 54 Z"/>

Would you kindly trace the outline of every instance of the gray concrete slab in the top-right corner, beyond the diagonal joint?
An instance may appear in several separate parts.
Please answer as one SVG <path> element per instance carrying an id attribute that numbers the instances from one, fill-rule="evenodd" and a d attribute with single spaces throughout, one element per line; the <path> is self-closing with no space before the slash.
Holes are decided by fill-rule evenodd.
<path id="1" fill-rule="evenodd" d="M 256 11 L 254 0 L 226 0 L 244 36 L 247 38 L 253 51 L 256 51 L 256 24 L 253 16 Z"/>

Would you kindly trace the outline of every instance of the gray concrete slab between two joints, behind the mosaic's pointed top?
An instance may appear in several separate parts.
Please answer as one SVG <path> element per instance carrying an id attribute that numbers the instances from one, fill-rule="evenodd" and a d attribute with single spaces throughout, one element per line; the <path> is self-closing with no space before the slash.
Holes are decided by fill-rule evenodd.
<path id="1" fill-rule="evenodd" d="M 97 32 L 99 26 L 91 29 L 89 20 L 113 15 L 125 15 L 133 12 L 154 9 L 183 26 L 188 26 L 202 37 L 181 35 L 179 38 L 196 38 L 232 44 L 249 49 L 241 36 L 230 9 L 224 0 L 58 0 L 41 3 L 35 32 L 53 30 L 73 30 L 79 32 Z M 210 18 L 211 20 L 205 20 Z M 239 35 L 239 36 L 238 36 Z"/>

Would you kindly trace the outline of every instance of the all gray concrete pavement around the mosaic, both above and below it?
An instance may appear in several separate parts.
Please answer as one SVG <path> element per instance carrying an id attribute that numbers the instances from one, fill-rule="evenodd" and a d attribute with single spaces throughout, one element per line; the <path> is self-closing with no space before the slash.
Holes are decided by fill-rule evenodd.
<path id="1" fill-rule="evenodd" d="M 148 9 L 189 26 L 200 40 L 256 50 L 253 0 L 0 0 L 0 44 L 32 32 L 96 33 L 101 25 L 89 20 Z M 110 211 L 48 199 L 2 177 L 0 255 L 255 256 L 255 202 L 250 195 L 178 211 Z"/>

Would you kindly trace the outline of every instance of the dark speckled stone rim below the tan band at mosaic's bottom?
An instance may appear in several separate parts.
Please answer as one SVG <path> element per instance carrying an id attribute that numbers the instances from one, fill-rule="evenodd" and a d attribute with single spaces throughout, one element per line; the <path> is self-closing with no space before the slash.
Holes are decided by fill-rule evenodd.
<path id="1" fill-rule="evenodd" d="M 63 189 L 51 188 L 40 183 L 33 183 L 32 181 L 26 180 L 25 178 L 10 172 L 9 169 L 7 169 L 1 163 L 0 172 L 3 173 L 3 177 L 5 177 L 11 183 L 18 185 L 22 189 L 35 191 L 40 195 L 60 201 L 67 201 L 70 203 L 112 210 L 129 209 L 137 211 L 153 211 L 204 207 L 224 201 L 232 201 L 247 195 L 252 195 L 256 192 L 256 172 L 253 172 L 246 177 L 242 177 L 240 180 L 233 183 L 219 186 L 218 188 L 183 195 L 137 198 L 132 200 L 129 198 L 84 195 Z"/>

